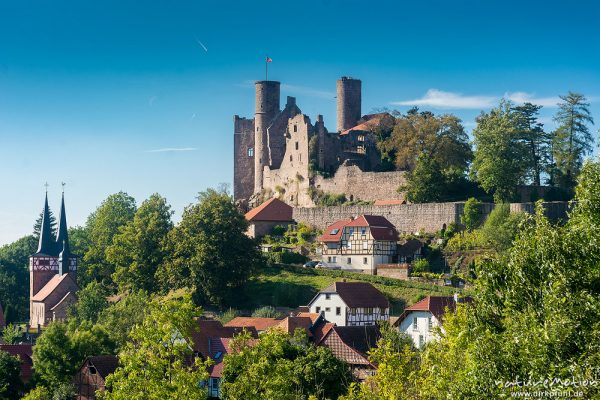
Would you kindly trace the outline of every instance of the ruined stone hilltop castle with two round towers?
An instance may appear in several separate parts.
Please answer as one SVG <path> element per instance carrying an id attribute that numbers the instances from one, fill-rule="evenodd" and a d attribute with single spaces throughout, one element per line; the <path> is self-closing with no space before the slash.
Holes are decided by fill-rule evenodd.
<path id="1" fill-rule="evenodd" d="M 236 201 L 253 206 L 277 197 L 311 207 L 319 195 L 345 195 L 348 201 L 402 200 L 397 189 L 404 172 L 378 172 L 381 157 L 374 130 L 387 113 L 361 117 L 361 81 L 337 81 L 337 125 L 314 124 L 288 96 L 280 109 L 280 82 L 257 81 L 254 118 L 234 116 Z"/>

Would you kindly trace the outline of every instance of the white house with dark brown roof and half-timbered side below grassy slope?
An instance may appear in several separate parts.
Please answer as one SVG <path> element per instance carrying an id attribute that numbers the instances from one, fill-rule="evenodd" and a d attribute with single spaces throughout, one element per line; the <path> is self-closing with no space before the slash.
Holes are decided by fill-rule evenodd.
<path id="1" fill-rule="evenodd" d="M 366 282 L 335 282 L 317 293 L 308 308 L 337 326 L 375 325 L 390 318 L 390 302 Z"/>

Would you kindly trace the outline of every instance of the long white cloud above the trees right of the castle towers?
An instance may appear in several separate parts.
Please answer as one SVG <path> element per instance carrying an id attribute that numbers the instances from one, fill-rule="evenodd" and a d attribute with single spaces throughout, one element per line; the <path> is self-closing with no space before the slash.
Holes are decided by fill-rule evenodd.
<path id="1" fill-rule="evenodd" d="M 420 99 L 394 101 L 396 106 L 426 106 L 433 108 L 488 108 L 498 100 L 494 96 L 465 96 L 462 93 L 429 89 Z"/>

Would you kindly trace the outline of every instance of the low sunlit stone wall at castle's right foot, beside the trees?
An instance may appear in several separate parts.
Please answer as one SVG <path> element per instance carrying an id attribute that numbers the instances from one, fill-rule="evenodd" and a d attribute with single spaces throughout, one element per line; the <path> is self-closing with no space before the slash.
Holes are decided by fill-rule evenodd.
<path id="1" fill-rule="evenodd" d="M 332 178 L 317 176 L 315 188 L 326 193 L 344 194 L 348 200 L 403 200 L 398 188 L 406 183 L 405 173 L 363 172 L 357 166 L 340 166 Z"/>

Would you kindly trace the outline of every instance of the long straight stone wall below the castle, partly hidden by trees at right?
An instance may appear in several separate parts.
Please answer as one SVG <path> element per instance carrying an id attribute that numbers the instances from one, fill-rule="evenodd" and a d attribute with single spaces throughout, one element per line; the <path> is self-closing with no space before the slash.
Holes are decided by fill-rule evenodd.
<path id="1" fill-rule="evenodd" d="M 510 205 L 512 212 L 532 213 L 534 203 L 513 203 Z M 482 213 L 489 215 L 494 204 L 484 203 Z M 546 215 L 552 221 L 566 218 L 568 203 L 544 203 Z M 457 203 L 423 203 L 423 204 L 398 204 L 388 206 L 336 206 L 294 208 L 293 217 L 296 222 L 304 222 L 324 229 L 333 222 L 355 217 L 361 214 L 382 215 L 386 217 L 399 232 L 414 233 L 419 231 L 437 232 L 451 223 L 459 224 L 460 216 L 464 209 L 463 202 Z"/>

